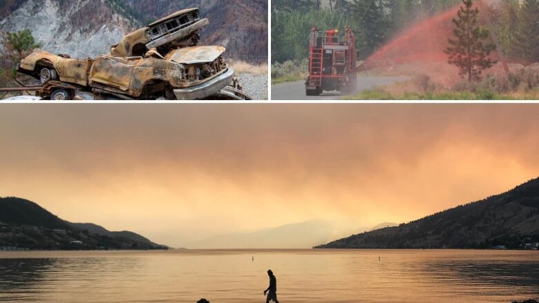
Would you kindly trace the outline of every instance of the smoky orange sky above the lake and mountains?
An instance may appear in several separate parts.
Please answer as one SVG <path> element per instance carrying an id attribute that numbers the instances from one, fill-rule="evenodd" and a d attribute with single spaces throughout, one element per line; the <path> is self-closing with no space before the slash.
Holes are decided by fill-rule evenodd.
<path id="1" fill-rule="evenodd" d="M 539 176 L 539 105 L 0 105 L 0 196 L 155 242 L 408 222 Z"/>

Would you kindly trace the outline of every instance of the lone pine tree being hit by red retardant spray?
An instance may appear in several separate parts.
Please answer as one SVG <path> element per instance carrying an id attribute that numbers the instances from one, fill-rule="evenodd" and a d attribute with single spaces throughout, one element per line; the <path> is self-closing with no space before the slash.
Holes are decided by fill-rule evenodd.
<path id="1" fill-rule="evenodd" d="M 489 30 L 477 25 L 479 9 L 473 8 L 472 0 L 462 0 L 464 6 L 453 19 L 455 39 L 449 39 L 445 52 L 449 56 L 448 63 L 460 68 L 460 75 L 468 77 L 468 81 L 480 79 L 486 68 L 491 68 L 495 61 L 489 59 L 491 51 L 495 50 L 492 43 L 487 43 Z"/>

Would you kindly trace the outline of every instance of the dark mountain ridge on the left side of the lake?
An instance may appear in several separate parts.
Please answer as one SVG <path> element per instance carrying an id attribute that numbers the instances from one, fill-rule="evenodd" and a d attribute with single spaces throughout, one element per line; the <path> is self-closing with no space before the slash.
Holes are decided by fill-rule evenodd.
<path id="1" fill-rule="evenodd" d="M 60 219 L 35 202 L 0 198 L 0 247 L 21 249 L 167 249 L 131 231 Z"/>

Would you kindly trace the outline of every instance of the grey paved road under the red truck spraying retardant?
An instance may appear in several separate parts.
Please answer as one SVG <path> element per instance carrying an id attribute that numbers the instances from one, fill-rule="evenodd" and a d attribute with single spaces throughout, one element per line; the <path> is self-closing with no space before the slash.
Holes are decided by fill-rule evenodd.
<path id="1" fill-rule="evenodd" d="M 375 86 L 394 84 L 404 81 L 408 77 L 357 77 L 357 91 L 362 92 Z M 272 99 L 274 100 L 338 100 L 339 92 L 324 92 L 320 96 L 305 95 L 305 81 L 286 82 L 272 85 Z"/>

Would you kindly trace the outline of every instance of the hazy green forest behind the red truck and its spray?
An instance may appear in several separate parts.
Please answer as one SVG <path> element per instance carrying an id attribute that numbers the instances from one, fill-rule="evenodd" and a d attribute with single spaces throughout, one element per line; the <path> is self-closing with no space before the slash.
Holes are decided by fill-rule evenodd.
<path id="1" fill-rule="evenodd" d="M 272 61 L 301 60 L 308 55 L 309 30 L 351 26 L 359 59 L 418 21 L 454 8 L 460 0 L 274 0 Z M 503 51 L 514 61 L 539 61 L 539 0 L 483 0 L 486 16 Z M 485 19 L 483 19 L 485 20 Z M 488 23 L 484 23 L 488 27 Z M 446 37 L 439 37 L 444 39 Z"/>

